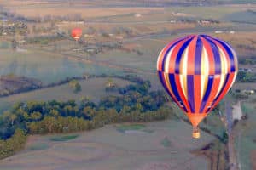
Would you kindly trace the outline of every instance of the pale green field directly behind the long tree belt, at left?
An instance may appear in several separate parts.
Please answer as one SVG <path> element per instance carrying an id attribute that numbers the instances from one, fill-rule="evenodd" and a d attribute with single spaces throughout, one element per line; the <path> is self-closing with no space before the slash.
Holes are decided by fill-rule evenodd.
<path id="1" fill-rule="evenodd" d="M 21 101 L 49 101 L 53 99 L 61 101 L 74 99 L 79 101 L 83 97 L 88 97 L 97 102 L 102 97 L 109 95 L 109 93 L 105 91 L 105 83 L 107 80 L 108 78 L 91 78 L 80 81 L 79 83 L 82 90 L 78 94 L 73 93 L 73 89 L 70 88 L 68 84 L 63 84 L 53 88 L 43 88 L 32 92 L 3 97 L 0 98 L 0 110 L 7 110 L 11 105 Z M 113 78 L 113 82 L 115 82 L 118 87 L 125 87 L 126 85 L 131 84 L 131 82 L 117 78 Z"/>

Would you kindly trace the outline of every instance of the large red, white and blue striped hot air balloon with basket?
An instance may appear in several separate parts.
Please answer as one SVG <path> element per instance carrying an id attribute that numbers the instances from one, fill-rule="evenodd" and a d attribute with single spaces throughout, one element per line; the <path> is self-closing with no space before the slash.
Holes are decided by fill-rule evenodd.
<path id="1" fill-rule="evenodd" d="M 196 139 L 200 138 L 198 124 L 228 93 L 237 70 L 230 44 L 207 35 L 169 42 L 157 60 L 160 82 L 189 117 Z"/>

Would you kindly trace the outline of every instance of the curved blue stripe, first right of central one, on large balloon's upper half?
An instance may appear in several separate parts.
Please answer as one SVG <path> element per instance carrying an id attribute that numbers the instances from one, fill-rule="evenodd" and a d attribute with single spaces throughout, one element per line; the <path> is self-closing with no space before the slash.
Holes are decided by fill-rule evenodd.
<path id="1" fill-rule="evenodd" d="M 221 74 L 221 60 L 220 60 L 220 55 L 218 52 L 218 46 L 215 44 L 215 42 L 213 42 L 211 40 L 210 37 L 206 38 L 207 42 L 209 42 L 209 44 L 212 47 L 212 53 L 214 56 L 214 68 L 215 68 L 215 74 Z"/>

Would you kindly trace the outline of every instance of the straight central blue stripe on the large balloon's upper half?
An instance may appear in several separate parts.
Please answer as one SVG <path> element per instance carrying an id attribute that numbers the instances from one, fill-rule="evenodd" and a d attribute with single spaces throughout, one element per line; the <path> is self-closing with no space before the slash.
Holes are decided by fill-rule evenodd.
<path id="1" fill-rule="evenodd" d="M 202 51 L 202 41 L 199 36 L 196 40 L 196 47 L 195 47 L 195 75 L 201 74 L 201 51 Z"/>

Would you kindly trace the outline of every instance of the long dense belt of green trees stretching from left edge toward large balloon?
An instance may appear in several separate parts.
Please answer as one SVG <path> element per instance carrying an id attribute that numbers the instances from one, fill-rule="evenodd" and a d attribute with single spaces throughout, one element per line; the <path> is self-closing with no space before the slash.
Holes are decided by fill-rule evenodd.
<path id="1" fill-rule="evenodd" d="M 0 148 L 13 149 L 3 150 L 0 157 L 22 149 L 26 133 L 71 133 L 103 127 L 109 123 L 153 122 L 172 115 L 172 108 L 165 105 L 167 97 L 164 92 L 149 91 L 150 82 L 139 77 L 126 78 L 136 83 L 116 88 L 118 96 L 109 95 L 97 104 L 84 98 L 79 102 L 52 100 L 13 105 L 0 116 Z M 17 138 L 17 135 L 21 137 Z M 19 144 L 12 145 L 16 143 Z"/>

